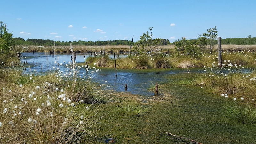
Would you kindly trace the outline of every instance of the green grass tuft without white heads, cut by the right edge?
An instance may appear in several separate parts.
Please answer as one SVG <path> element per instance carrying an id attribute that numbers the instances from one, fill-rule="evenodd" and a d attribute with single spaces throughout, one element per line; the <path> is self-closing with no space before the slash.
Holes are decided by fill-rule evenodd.
<path id="1" fill-rule="evenodd" d="M 256 108 L 252 105 L 238 105 L 235 102 L 228 102 L 220 112 L 223 117 L 233 121 L 244 124 L 256 123 Z"/>

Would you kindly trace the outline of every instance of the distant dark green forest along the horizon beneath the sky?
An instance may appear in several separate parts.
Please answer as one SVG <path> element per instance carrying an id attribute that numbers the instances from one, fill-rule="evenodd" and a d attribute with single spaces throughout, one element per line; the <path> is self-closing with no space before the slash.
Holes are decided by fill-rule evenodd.
<path id="1" fill-rule="evenodd" d="M 43 40 L 43 39 L 27 39 L 23 38 L 13 38 L 15 45 L 35 45 L 35 46 L 69 46 L 71 41 L 53 41 L 53 40 Z M 191 39 L 188 41 L 192 41 Z M 194 39 L 193 41 L 196 41 Z M 170 43 L 168 39 L 160 39 L 159 45 L 171 45 L 175 44 L 176 41 Z M 131 40 L 111 40 L 111 41 L 73 41 L 72 45 L 87 45 L 87 46 L 101 46 L 101 45 L 131 45 Z M 216 40 L 217 44 L 217 40 Z M 248 38 L 226 38 L 221 39 L 221 44 L 235 44 L 235 45 L 256 45 L 256 37 Z"/>

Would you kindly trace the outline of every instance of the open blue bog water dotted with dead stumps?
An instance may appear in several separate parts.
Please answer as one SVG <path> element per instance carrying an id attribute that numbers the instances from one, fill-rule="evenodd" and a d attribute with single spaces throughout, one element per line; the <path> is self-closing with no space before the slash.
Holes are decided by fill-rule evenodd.
<path id="1" fill-rule="evenodd" d="M 120 55 L 119 55 L 120 56 Z M 120 57 L 125 57 L 127 55 L 121 55 Z M 86 58 L 89 57 L 88 54 L 77 54 L 76 62 L 83 63 Z M 113 55 L 109 55 L 113 57 Z M 59 68 L 61 71 L 67 70 L 66 64 L 71 62 L 70 54 L 55 54 L 49 55 L 47 53 L 22 53 L 21 57 L 22 63 L 25 63 L 26 73 L 38 73 L 53 70 L 53 67 Z M 55 63 L 55 61 L 57 63 Z M 61 66 L 60 63 L 63 63 Z M 59 65 L 58 65 L 59 64 Z M 85 65 L 85 64 L 84 64 Z M 28 67 L 29 66 L 29 67 Z M 82 64 L 81 64 L 82 66 Z M 94 65 L 91 65 L 91 68 Z M 96 67 L 101 69 L 100 67 Z M 197 70 L 195 70 L 196 72 Z M 86 73 L 85 68 L 80 69 L 80 73 Z M 126 92 L 125 85 L 127 84 L 127 92 L 132 94 L 140 94 L 144 96 L 153 96 L 154 92 L 149 91 L 148 88 L 155 84 L 161 84 L 166 79 L 167 75 L 172 75 L 176 73 L 187 73 L 187 69 L 171 70 L 171 69 L 159 69 L 159 70 L 134 70 L 134 69 L 118 69 L 117 77 L 115 69 L 101 70 L 94 73 L 95 81 L 99 82 L 104 89 L 116 90 L 118 92 Z M 105 83 L 107 81 L 107 83 Z M 107 87 L 110 85 L 111 87 Z"/>

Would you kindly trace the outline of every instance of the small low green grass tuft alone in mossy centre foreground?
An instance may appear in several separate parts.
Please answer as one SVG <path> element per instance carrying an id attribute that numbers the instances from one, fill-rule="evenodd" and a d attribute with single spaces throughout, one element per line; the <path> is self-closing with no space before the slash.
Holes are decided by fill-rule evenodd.
<path id="1" fill-rule="evenodd" d="M 140 116 L 149 111 L 149 108 L 138 103 L 124 103 L 116 105 L 113 112 L 119 115 Z"/>

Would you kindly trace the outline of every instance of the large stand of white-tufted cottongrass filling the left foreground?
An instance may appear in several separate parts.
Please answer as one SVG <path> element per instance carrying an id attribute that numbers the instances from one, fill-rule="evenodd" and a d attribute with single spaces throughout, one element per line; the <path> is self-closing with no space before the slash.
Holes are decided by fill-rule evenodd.
<path id="1" fill-rule="evenodd" d="M 90 92 L 96 100 L 84 103 L 95 85 L 80 68 L 67 64 L 50 72 L 54 75 L 4 69 L 9 75 L 3 81 L 9 83 L 0 84 L 0 143 L 86 143 L 85 137 L 95 138 L 92 125 L 104 106 L 96 92 Z"/>

